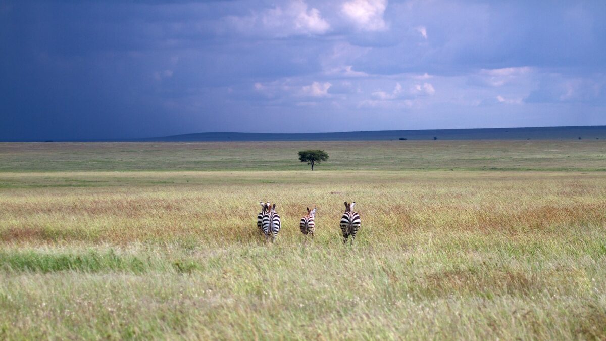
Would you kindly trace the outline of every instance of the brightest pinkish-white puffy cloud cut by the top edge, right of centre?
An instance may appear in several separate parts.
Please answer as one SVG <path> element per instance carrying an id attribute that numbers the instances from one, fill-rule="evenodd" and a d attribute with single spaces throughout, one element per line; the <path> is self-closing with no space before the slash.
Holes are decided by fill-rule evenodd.
<path id="1" fill-rule="evenodd" d="M 387 0 L 351 0 L 342 5 L 341 12 L 360 30 L 382 31 L 387 29 L 383 20 L 385 8 Z"/>

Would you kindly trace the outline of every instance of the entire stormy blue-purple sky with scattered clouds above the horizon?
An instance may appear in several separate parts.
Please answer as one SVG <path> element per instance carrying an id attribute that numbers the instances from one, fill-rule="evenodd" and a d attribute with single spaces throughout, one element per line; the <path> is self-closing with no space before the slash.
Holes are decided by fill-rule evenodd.
<path id="1" fill-rule="evenodd" d="M 0 0 L 0 140 L 606 125 L 606 1 Z"/>

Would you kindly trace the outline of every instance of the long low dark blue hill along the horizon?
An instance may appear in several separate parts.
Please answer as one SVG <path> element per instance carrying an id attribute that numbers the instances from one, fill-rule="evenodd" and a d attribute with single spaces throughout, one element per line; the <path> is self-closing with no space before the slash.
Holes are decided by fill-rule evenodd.
<path id="1" fill-rule="evenodd" d="M 335 133 L 191 133 L 136 141 L 408 141 L 427 140 L 606 140 L 606 126 L 528 127 L 491 129 L 378 130 Z"/>

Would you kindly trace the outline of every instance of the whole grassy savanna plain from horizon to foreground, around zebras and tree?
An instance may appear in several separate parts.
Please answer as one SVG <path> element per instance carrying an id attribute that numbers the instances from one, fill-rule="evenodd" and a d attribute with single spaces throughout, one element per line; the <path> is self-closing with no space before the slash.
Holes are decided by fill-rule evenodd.
<path id="1" fill-rule="evenodd" d="M 1 143 L 0 339 L 606 339 L 606 141 Z"/>

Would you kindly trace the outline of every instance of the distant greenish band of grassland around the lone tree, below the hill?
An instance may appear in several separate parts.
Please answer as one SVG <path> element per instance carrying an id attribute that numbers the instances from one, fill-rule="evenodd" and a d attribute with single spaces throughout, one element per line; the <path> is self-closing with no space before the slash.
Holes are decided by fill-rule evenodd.
<path id="1" fill-rule="evenodd" d="M 606 141 L 0 143 L 0 172 L 305 170 L 297 152 L 324 149 L 318 170 L 606 170 Z"/>

